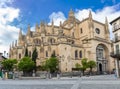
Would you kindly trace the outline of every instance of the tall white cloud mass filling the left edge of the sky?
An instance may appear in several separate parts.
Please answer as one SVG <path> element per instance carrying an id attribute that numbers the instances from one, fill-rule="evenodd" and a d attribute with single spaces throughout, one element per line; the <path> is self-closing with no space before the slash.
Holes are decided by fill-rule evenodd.
<path id="1" fill-rule="evenodd" d="M 9 51 L 9 45 L 18 38 L 19 28 L 12 26 L 14 19 L 19 18 L 20 10 L 8 7 L 13 0 L 0 0 L 0 52 Z"/>

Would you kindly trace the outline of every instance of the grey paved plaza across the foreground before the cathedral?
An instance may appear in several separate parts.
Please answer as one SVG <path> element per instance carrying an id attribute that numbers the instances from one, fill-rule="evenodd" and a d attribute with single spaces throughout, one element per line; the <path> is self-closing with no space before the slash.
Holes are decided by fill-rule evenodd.
<path id="1" fill-rule="evenodd" d="M 1 79 L 0 89 L 120 89 L 120 79 L 114 75 L 36 80 Z"/>

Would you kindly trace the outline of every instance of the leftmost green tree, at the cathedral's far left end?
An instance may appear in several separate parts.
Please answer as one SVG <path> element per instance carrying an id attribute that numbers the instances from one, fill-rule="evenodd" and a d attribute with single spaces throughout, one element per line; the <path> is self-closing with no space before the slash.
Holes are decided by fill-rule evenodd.
<path id="1" fill-rule="evenodd" d="M 15 64 L 17 64 L 16 59 L 6 59 L 2 61 L 3 68 L 8 71 L 13 71 Z"/>

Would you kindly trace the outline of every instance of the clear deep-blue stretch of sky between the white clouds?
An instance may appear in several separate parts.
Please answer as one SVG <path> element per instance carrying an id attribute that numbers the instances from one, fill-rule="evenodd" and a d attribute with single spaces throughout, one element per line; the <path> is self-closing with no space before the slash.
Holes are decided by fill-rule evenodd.
<path id="1" fill-rule="evenodd" d="M 41 20 L 49 22 L 49 15 L 53 12 L 62 11 L 67 17 L 70 8 L 87 9 L 93 11 L 102 9 L 106 6 L 112 6 L 119 3 L 120 0 L 15 0 L 12 6 L 20 9 L 21 20 L 16 21 L 15 25 L 25 28 L 27 24 L 34 25 Z M 24 26 L 25 24 L 25 26 Z"/>

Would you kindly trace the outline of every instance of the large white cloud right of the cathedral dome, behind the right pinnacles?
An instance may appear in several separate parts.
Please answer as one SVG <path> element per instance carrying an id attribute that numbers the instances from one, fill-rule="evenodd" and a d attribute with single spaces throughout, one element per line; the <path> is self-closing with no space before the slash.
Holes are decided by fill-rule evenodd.
<path id="1" fill-rule="evenodd" d="M 103 9 L 96 10 L 95 12 L 92 11 L 91 9 L 83 9 L 83 10 L 78 10 L 77 9 L 76 12 L 75 12 L 75 17 L 81 21 L 83 18 L 88 17 L 89 10 L 91 10 L 92 11 L 92 17 L 93 17 L 94 20 L 105 23 L 105 17 L 107 17 L 108 22 L 110 22 L 113 19 L 120 16 L 120 10 L 118 10 L 119 8 L 120 8 L 120 3 L 117 4 L 117 5 L 114 5 L 114 6 L 104 7 Z M 109 25 L 109 28 L 110 28 L 110 37 L 112 39 L 113 38 L 112 29 L 111 29 L 112 27 Z"/>

